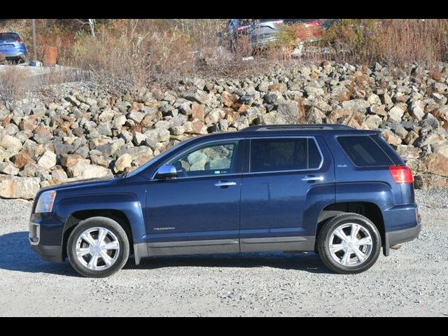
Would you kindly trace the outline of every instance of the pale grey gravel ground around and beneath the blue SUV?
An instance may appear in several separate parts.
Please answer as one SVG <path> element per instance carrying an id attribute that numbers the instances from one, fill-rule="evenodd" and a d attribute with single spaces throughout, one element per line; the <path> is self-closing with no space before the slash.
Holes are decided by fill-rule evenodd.
<path id="1" fill-rule="evenodd" d="M 314 253 L 130 260 L 108 279 L 41 261 L 31 202 L 0 200 L 0 316 L 448 316 L 448 189 L 416 190 L 419 239 L 363 274 Z"/>

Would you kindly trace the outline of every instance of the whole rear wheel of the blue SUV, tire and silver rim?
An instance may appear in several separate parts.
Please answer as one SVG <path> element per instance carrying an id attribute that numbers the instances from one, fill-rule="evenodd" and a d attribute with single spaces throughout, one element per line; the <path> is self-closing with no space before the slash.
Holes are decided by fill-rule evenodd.
<path id="1" fill-rule="evenodd" d="M 340 214 L 323 225 L 317 245 L 328 268 L 339 274 L 353 274 L 364 272 L 377 261 L 381 236 L 364 216 Z"/>

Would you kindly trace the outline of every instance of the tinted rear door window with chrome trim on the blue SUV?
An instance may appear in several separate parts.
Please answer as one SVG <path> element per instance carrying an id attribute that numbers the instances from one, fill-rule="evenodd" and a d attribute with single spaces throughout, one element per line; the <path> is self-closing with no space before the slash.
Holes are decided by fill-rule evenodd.
<path id="1" fill-rule="evenodd" d="M 315 169 L 321 154 L 314 139 L 252 139 L 251 172 Z"/>

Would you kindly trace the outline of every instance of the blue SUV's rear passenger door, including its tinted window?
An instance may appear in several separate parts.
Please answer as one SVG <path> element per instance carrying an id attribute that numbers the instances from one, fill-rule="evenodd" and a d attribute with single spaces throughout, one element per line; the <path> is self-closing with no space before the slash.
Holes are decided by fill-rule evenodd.
<path id="1" fill-rule="evenodd" d="M 334 202 L 332 156 L 321 137 L 248 139 L 241 252 L 314 249 L 316 219 Z"/>

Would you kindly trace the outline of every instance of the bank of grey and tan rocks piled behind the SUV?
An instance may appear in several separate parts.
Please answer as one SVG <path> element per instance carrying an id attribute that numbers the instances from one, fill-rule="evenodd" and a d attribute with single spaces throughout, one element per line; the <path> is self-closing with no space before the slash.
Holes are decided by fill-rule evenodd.
<path id="1" fill-rule="evenodd" d="M 43 186 L 137 167 L 189 137 L 277 123 L 380 128 L 416 188 L 448 186 L 447 78 L 447 64 L 430 72 L 323 62 L 186 79 L 165 92 L 53 85 L 45 99 L 0 104 L 0 197 L 31 199 Z"/>

